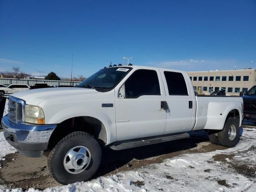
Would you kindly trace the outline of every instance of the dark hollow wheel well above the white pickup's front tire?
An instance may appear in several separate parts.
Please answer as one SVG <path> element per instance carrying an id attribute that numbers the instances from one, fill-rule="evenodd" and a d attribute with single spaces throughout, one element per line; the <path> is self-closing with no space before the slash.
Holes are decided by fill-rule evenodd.
<path id="1" fill-rule="evenodd" d="M 48 149 L 54 148 L 62 138 L 74 131 L 83 131 L 91 134 L 101 145 L 107 143 L 106 128 L 100 120 L 90 116 L 78 116 L 57 124 L 50 136 Z"/>

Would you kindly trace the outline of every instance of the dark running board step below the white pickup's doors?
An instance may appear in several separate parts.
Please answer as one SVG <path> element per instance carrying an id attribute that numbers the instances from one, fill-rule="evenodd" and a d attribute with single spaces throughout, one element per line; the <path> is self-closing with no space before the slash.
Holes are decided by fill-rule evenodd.
<path id="1" fill-rule="evenodd" d="M 117 141 L 110 145 L 110 148 L 113 150 L 123 150 L 123 149 L 129 149 L 134 147 L 140 147 L 145 145 L 151 145 L 156 143 L 163 143 L 167 141 L 173 141 L 178 139 L 185 139 L 189 138 L 190 135 L 188 133 L 182 133 L 182 134 L 172 134 L 172 135 L 166 135 L 161 137 L 148 137 L 148 138 L 140 138 L 136 140 L 124 140 L 124 141 Z"/>

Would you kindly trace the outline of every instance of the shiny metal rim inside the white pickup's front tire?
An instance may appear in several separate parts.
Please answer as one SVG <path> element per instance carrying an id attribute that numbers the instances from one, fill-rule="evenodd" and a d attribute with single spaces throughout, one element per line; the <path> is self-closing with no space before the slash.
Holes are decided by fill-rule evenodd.
<path id="1" fill-rule="evenodd" d="M 67 172 L 78 174 L 86 170 L 90 160 L 91 154 L 88 148 L 75 146 L 66 153 L 63 164 Z"/>

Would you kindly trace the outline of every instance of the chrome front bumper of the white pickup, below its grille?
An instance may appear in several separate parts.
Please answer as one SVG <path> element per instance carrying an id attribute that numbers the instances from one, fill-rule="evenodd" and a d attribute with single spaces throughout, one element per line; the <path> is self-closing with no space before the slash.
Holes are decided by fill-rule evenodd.
<path id="1" fill-rule="evenodd" d="M 27 157 L 41 157 L 48 147 L 48 142 L 56 124 L 34 125 L 27 123 L 13 124 L 7 115 L 2 118 L 4 137 L 17 151 Z"/>

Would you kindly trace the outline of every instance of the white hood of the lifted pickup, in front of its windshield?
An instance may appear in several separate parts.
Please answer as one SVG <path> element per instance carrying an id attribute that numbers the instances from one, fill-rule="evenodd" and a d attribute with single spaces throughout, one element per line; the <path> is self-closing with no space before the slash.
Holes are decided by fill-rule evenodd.
<path id="1" fill-rule="evenodd" d="M 68 97 L 74 98 L 78 95 L 85 94 L 98 94 L 100 92 L 95 89 L 89 88 L 76 88 L 76 87 L 60 87 L 60 88 L 41 88 L 41 89 L 32 89 L 26 91 L 20 91 L 12 94 L 16 98 L 20 98 L 26 101 L 26 104 L 38 105 L 42 101 L 50 98 L 58 97 Z"/>

